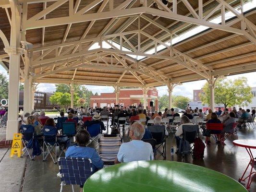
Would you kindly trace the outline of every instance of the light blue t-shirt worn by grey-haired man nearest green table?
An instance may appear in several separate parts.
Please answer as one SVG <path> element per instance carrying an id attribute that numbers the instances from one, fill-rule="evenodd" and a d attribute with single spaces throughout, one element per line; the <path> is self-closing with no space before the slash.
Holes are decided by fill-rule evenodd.
<path id="1" fill-rule="evenodd" d="M 121 144 L 117 159 L 119 162 L 153 160 L 153 149 L 149 143 L 141 140 L 132 140 Z"/>

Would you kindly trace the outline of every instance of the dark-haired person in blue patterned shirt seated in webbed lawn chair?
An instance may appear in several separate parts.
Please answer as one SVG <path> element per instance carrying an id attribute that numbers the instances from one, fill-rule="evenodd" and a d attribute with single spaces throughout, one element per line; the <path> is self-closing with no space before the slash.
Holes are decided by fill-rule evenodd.
<path id="1" fill-rule="evenodd" d="M 98 169 L 103 168 L 103 161 L 100 159 L 97 151 L 93 148 L 86 147 L 86 144 L 90 140 L 90 134 L 86 130 L 81 130 L 76 133 L 75 141 L 76 145 L 70 146 L 66 153 L 66 157 L 80 157 L 90 158 L 92 161 L 92 169 L 96 172 Z M 83 185 L 80 185 L 80 192 L 83 191 Z"/>

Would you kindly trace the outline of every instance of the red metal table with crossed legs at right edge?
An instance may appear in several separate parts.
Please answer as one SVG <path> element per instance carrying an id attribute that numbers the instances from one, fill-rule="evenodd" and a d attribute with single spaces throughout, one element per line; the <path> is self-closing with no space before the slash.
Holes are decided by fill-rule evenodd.
<path id="1" fill-rule="evenodd" d="M 254 176 L 256 175 L 256 171 L 253 171 L 253 168 L 254 168 L 254 165 L 255 165 L 255 159 L 254 159 L 253 153 L 251 151 L 251 149 L 256 149 L 256 140 L 238 139 L 238 140 L 234 140 L 233 144 L 237 145 L 237 146 L 240 146 L 240 147 L 244 147 L 246 149 L 247 153 L 250 156 L 250 162 L 248 163 L 247 167 L 245 168 L 242 177 L 239 179 L 239 181 L 246 181 L 246 179 L 248 178 L 248 182 L 247 182 L 247 186 L 246 186 L 246 189 L 248 190 L 248 189 L 250 189 L 251 182 L 252 182 Z M 248 170 L 250 165 L 251 165 L 250 173 L 247 177 L 244 177 L 244 175 L 245 175 L 245 173 Z"/>

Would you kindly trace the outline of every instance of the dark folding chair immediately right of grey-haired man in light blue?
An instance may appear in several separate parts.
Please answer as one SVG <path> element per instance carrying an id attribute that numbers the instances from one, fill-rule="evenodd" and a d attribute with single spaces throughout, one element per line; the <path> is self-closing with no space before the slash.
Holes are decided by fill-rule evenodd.
<path id="1" fill-rule="evenodd" d="M 151 132 L 153 139 L 157 141 L 156 151 L 166 159 L 165 126 L 153 125 L 148 126 L 147 129 Z M 162 151 L 160 147 L 162 147 Z"/>

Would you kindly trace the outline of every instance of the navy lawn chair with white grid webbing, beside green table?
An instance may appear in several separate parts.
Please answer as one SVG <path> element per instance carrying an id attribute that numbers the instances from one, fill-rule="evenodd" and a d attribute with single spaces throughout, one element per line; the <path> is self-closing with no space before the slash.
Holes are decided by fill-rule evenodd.
<path id="1" fill-rule="evenodd" d="M 59 169 L 61 174 L 61 191 L 64 185 L 84 185 L 85 181 L 94 173 L 92 160 L 89 158 L 60 157 Z"/>

